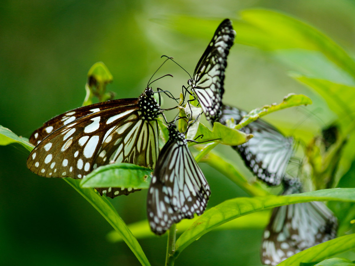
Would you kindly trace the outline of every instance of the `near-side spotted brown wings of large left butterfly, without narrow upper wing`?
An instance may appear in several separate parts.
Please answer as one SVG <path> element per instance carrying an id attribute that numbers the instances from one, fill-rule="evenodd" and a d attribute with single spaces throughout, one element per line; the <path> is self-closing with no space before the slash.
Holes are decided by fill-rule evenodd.
<path id="1" fill-rule="evenodd" d="M 27 167 L 44 177 L 82 178 L 109 162 L 154 166 L 157 121 L 142 120 L 138 105 L 120 106 L 78 118 L 49 134 L 30 153 Z M 132 188 L 99 188 L 118 196 Z"/>

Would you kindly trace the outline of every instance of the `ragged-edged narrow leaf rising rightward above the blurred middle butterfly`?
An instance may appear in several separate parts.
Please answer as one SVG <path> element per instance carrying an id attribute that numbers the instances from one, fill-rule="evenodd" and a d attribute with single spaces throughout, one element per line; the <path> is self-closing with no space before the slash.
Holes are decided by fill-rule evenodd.
<path id="1" fill-rule="evenodd" d="M 247 124 L 257 120 L 258 118 L 278 110 L 308 104 L 312 104 L 312 100 L 307 96 L 302 94 L 290 93 L 284 97 L 283 101 L 280 104 L 264 105 L 261 108 L 257 108 L 250 111 L 234 128 L 240 129 L 242 127 L 245 127 Z"/>

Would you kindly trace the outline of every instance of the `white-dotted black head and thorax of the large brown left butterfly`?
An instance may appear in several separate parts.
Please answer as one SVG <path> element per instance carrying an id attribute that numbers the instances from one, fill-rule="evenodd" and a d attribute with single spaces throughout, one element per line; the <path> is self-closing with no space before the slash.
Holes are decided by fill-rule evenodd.
<path id="1" fill-rule="evenodd" d="M 145 120 L 155 120 L 161 113 L 160 106 L 153 94 L 152 88 L 147 88 L 138 98 L 138 105 Z"/>

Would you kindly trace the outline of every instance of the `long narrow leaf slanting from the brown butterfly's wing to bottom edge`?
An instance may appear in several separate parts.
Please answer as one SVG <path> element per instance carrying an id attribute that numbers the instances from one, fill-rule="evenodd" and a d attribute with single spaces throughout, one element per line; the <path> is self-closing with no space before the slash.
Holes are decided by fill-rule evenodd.
<path id="1" fill-rule="evenodd" d="M 81 188 L 80 180 L 72 178 L 63 178 L 69 183 L 80 195 L 84 197 L 116 230 L 116 232 L 125 241 L 127 246 L 132 250 L 133 254 L 141 262 L 142 265 L 149 266 L 150 263 L 144 254 L 142 247 L 137 239 L 133 236 L 122 218 L 118 215 L 114 207 L 109 203 L 106 197 L 94 191 L 92 188 Z"/>

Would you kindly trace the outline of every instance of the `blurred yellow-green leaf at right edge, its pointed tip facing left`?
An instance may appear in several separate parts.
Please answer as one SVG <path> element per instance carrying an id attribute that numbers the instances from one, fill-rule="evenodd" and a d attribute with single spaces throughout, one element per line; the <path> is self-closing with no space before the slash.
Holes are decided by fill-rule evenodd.
<path id="1" fill-rule="evenodd" d="M 329 109 L 339 118 L 353 118 L 355 110 L 355 87 L 291 73 L 291 77 L 315 90 L 326 100 Z"/>

